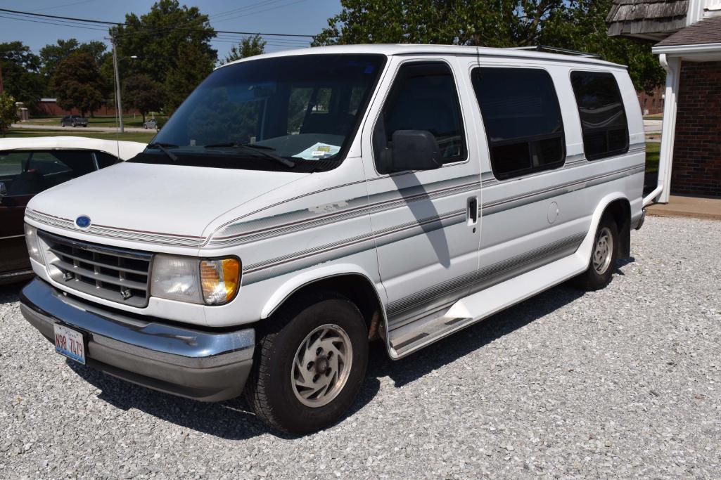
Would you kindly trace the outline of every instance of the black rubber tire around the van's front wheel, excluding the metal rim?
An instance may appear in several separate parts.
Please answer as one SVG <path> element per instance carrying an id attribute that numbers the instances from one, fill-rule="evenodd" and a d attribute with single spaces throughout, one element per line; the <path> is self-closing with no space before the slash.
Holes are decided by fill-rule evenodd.
<path id="1" fill-rule="evenodd" d="M 348 334 L 353 361 L 345 384 L 329 403 L 307 406 L 294 391 L 293 365 L 296 353 L 306 345 L 306 337 L 327 324 L 340 326 Z M 308 295 L 291 300 L 261 322 L 259 330 L 253 368 L 244 392 L 249 406 L 271 427 L 293 435 L 335 424 L 353 404 L 366 377 L 368 330 L 358 307 L 335 293 Z"/>

